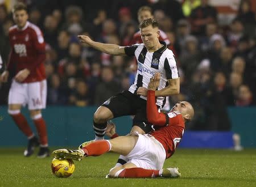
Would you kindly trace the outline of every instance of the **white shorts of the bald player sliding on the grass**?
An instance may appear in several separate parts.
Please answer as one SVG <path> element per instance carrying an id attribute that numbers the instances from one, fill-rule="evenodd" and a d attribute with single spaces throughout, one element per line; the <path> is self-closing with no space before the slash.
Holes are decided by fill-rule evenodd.
<path id="1" fill-rule="evenodd" d="M 166 160 L 166 151 L 154 137 L 139 134 L 138 142 L 126 157 L 139 168 L 162 169 Z"/>

